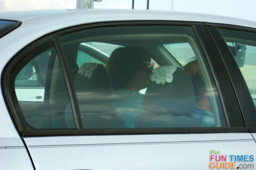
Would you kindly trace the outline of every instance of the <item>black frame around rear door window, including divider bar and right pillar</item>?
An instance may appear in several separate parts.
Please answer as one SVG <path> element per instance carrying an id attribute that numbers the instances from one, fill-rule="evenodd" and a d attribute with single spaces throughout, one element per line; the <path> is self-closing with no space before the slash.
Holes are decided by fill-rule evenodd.
<path id="1" fill-rule="evenodd" d="M 77 98 L 74 90 L 74 85 L 71 80 L 71 75 L 67 66 L 67 61 L 65 59 L 65 54 L 63 53 L 62 46 L 60 44 L 59 37 L 65 35 L 66 33 L 75 32 L 83 29 L 97 28 L 97 27 L 109 27 L 109 26 L 128 26 L 128 25 L 182 25 L 182 26 L 190 26 L 194 29 L 195 35 L 201 45 L 203 52 L 206 56 L 206 64 L 209 64 L 212 77 L 215 81 L 215 86 L 219 92 L 219 97 L 222 103 L 223 112 L 226 117 L 226 122 L 228 127 L 225 128 L 157 128 L 157 129 L 93 129 L 86 130 L 83 129 L 81 115 L 79 115 L 79 107 L 77 103 Z M 73 108 L 74 118 L 76 129 L 61 129 L 61 130 L 23 130 L 21 134 L 23 137 L 33 137 L 33 136 L 44 136 L 44 135 L 99 135 L 99 134 L 162 134 L 162 133 L 218 133 L 218 132 L 248 132 L 248 130 L 244 126 L 244 122 L 242 119 L 242 113 L 239 109 L 239 105 L 235 96 L 233 86 L 231 86 L 231 82 L 228 79 L 228 74 L 225 66 L 222 63 L 220 54 L 215 47 L 215 44 L 207 31 L 204 23 L 202 22 L 185 22 L 185 21 L 118 21 L 118 22 L 102 22 L 102 23 L 91 23 L 78 25 L 76 27 L 65 28 L 60 31 L 56 31 L 46 35 L 44 37 L 38 38 L 34 43 L 31 43 L 26 48 L 21 49 L 17 55 L 15 55 L 12 60 L 7 64 L 4 69 L 2 76 L 2 88 L 4 92 L 4 97 L 6 101 L 6 105 L 9 108 L 9 111 L 13 117 L 15 124 L 19 131 L 20 123 L 17 115 L 15 113 L 14 103 L 11 100 L 10 90 L 8 88 L 10 76 L 7 73 L 10 73 L 13 69 L 15 63 L 18 63 L 22 57 L 25 57 L 24 54 L 33 50 L 35 47 L 49 43 L 49 41 L 53 41 L 54 46 L 57 50 L 57 55 L 59 56 L 60 64 L 63 69 L 63 74 L 66 80 L 69 97 L 71 100 L 71 107 Z M 220 67 L 221 65 L 221 67 Z M 14 94 L 15 95 L 15 94 Z M 230 103 L 231 101 L 231 103 Z M 18 122 L 18 123 L 17 123 Z"/>

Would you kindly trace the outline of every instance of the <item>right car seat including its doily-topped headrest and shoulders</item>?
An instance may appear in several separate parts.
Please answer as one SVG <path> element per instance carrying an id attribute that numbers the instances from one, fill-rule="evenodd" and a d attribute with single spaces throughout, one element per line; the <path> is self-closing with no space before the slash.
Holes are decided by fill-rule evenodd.
<path id="1" fill-rule="evenodd" d="M 142 101 L 135 128 L 188 128 L 201 123 L 189 118 L 195 109 L 193 84 L 186 71 L 176 66 L 160 66 L 154 70 Z"/>

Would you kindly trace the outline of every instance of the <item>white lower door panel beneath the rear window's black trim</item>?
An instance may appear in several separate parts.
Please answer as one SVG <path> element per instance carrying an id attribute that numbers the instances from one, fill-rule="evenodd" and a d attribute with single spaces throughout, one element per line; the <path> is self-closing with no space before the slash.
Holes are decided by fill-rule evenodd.
<path id="1" fill-rule="evenodd" d="M 207 169 L 211 149 L 227 156 L 256 152 L 249 133 L 69 136 L 25 141 L 36 169 Z M 238 148 L 243 148 L 242 152 Z"/>

